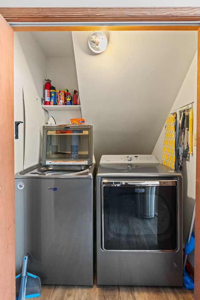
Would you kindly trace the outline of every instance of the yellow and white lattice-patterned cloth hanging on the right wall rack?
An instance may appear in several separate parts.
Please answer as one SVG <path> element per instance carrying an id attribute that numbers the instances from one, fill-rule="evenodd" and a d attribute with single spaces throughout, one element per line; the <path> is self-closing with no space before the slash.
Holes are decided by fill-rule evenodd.
<path id="1" fill-rule="evenodd" d="M 176 113 L 168 115 L 166 125 L 165 125 L 165 138 L 163 145 L 163 156 L 162 163 L 164 166 L 170 167 L 175 170 L 175 123 L 176 123 Z"/>

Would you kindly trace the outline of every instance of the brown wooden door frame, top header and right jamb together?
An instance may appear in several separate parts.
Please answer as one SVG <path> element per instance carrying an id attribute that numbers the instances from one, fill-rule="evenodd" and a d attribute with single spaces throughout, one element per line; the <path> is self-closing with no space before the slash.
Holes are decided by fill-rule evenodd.
<path id="1" fill-rule="evenodd" d="M 80 26 L 13 27 L 14 31 L 80 31 L 80 30 L 198 30 L 199 25 L 174 26 L 85 26 L 85 22 L 199 22 L 200 7 L 150 8 L 0 8 L 7 22 L 79 22 Z M 82 25 L 82 24 L 83 25 Z M 8 107 L 9 109 L 9 107 Z M 200 32 L 197 55 L 197 162 L 200 159 Z M 200 164 L 196 166 L 195 222 L 195 289 L 194 300 L 200 299 Z"/>

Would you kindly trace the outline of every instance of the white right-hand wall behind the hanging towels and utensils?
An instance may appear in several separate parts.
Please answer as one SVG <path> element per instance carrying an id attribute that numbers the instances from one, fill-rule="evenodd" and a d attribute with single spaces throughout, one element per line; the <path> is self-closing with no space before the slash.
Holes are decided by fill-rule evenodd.
<path id="1" fill-rule="evenodd" d="M 178 96 L 168 113 L 178 109 L 187 103 L 193 103 L 193 133 L 197 130 L 197 53 L 192 61 L 192 64 L 187 72 L 183 85 L 178 93 Z M 166 119 L 167 115 L 166 113 Z M 165 128 L 160 134 L 158 142 L 153 150 L 158 159 L 162 162 L 162 150 L 164 141 Z M 186 241 L 187 234 L 190 228 L 192 212 L 195 201 L 196 190 L 196 147 L 193 146 L 193 154 L 189 158 L 183 158 L 183 242 Z M 193 254 L 193 253 L 192 253 Z M 193 260 L 193 259 L 192 259 Z"/>

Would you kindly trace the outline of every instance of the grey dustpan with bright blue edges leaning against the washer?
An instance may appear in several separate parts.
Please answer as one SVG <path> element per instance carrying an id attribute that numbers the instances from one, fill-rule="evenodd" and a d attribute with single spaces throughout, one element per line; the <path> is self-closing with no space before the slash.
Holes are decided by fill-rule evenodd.
<path id="1" fill-rule="evenodd" d="M 41 296 L 41 281 L 36 275 L 27 272 L 28 255 L 24 255 L 22 273 L 15 277 L 16 300 Z M 18 295 L 18 296 L 17 296 Z"/>

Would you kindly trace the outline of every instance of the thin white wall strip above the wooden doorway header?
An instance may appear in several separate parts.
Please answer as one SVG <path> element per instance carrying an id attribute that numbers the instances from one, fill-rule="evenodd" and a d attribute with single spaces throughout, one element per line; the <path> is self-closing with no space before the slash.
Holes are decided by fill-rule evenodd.
<path id="1" fill-rule="evenodd" d="M 2 7 L 184 7 L 184 6 L 199 6 L 198 0 L 35 0 L 34 2 L 28 2 L 27 0 L 7 0 L 6 2 L 1 1 Z"/>

